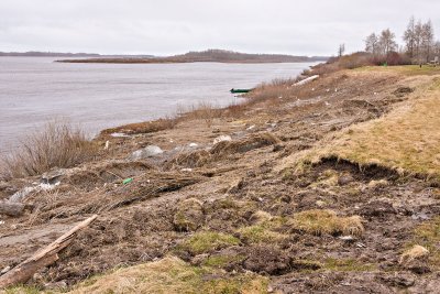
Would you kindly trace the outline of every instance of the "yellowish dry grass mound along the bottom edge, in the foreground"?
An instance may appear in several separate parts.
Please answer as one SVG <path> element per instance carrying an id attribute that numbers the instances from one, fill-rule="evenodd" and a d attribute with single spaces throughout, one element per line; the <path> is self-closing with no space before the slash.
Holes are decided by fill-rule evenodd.
<path id="1" fill-rule="evenodd" d="M 267 293 L 267 279 L 256 274 L 228 276 L 165 258 L 90 279 L 69 293 Z"/>

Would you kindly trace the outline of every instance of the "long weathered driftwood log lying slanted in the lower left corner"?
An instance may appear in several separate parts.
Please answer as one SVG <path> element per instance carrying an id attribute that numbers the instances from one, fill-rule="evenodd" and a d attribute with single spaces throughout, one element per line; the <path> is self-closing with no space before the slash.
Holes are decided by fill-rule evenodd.
<path id="1" fill-rule="evenodd" d="M 58 252 L 70 244 L 78 231 L 88 227 L 98 216 L 94 215 L 75 226 L 72 230 L 37 251 L 6 274 L 0 276 L 0 288 L 19 283 L 25 283 L 41 268 L 47 266 L 58 260 Z"/>

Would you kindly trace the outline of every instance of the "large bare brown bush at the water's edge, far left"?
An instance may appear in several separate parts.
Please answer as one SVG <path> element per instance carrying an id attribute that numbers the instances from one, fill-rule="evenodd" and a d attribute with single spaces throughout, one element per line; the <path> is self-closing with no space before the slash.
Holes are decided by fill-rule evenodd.
<path id="1" fill-rule="evenodd" d="M 22 140 L 21 146 L 1 160 L 4 178 L 40 175 L 53 167 L 72 167 L 91 160 L 97 152 L 80 129 L 54 121 Z"/>

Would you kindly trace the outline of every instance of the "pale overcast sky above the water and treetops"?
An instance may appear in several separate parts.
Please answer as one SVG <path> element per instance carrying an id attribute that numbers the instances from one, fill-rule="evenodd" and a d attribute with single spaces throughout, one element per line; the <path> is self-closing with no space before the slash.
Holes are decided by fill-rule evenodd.
<path id="1" fill-rule="evenodd" d="M 0 0 L 0 51 L 332 55 L 386 28 L 402 42 L 411 15 L 440 36 L 439 13 L 439 0 Z"/>

